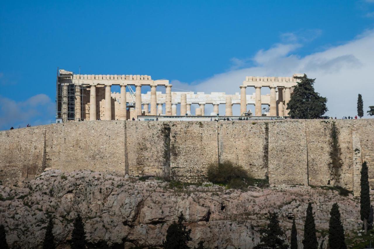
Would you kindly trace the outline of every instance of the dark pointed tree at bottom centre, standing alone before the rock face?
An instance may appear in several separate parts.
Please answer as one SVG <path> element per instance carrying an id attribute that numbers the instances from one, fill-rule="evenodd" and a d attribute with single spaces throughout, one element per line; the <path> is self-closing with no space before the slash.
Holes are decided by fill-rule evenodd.
<path id="1" fill-rule="evenodd" d="M 191 229 L 183 225 L 183 212 L 178 216 L 178 222 L 173 222 L 166 230 L 166 240 L 163 242 L 164 249 L 189 249 L 187 243 L 191 240 Z"/>

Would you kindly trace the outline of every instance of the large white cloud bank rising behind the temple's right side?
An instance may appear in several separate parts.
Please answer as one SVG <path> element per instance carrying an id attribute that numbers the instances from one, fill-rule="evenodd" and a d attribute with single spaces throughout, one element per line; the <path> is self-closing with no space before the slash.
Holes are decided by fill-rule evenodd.
<path id="1" fill-rule="evenodd" d="M 294 40 L 298 41 L 296 38 Z M 373 44 L 374 30 L 366 31 L 343 45 L 304 57 L 295 54 L 295 50 L 302 46 L 300 43 L 278 43 L 268 50 L 258 51 L 252 59 L 255 66 L 233 68 L 199 84 L 179 83 L 178 88 L 234 94 L 239 92 L 239 85 L 246 76 L 292 76 L 294 73 L 306 73 L 308 77 L 316 78 L 316 91 L 327 97 L 329 116 L 355 116 L 358 93 L 362 94 L 366 114 L 368 106 L 374 105 Z M 240 61 L 236 64 L 243 65 Z M 253 92 L 252 87 L 247 88 L 247 94 Z M 266 90 L 263 90 L 264 93 L 267 93 Z M 254 110 L 253 107 L 251 109 Z"/>

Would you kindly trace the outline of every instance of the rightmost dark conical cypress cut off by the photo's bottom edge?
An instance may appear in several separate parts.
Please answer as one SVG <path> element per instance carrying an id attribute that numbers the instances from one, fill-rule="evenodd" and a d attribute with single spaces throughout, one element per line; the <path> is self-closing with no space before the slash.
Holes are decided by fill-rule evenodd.
<path id="1" fill-rule="evenodd" d="M 344 228 L 340 220 L 340 212 L 337 203 L 334 203 L 330 212 L 328 228 L 329 249 L 347 249 L 344 238 Z"/>

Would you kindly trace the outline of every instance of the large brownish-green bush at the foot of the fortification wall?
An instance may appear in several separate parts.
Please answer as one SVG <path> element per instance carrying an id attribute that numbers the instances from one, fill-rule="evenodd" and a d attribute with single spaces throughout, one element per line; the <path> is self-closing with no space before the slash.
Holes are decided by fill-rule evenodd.
<path id="1" fill-rule="evenodd" d="M 208 181 L 214 184 L 227 185 L 228 188 L 245 189 L 248 186 L 266 187 L 268 179 L 251 178 L 242 166 L 233 165 L 230 161 L 208 166 Z"/>

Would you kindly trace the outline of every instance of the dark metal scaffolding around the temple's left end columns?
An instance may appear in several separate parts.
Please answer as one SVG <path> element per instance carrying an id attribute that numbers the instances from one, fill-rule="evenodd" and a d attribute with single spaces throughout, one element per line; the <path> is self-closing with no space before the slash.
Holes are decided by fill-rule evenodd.
<path id="1" fill-rule="evenodd" d="M 75 99 L 80 95 L 80 117 L 83 117 L 83 90 L 82 85 L 73 84 L 73 72 L 59 70 L 57 68 L 56 80 L 56 119 L 62 119 L 63 122 L 75 120 Z M 79 92 L 76 92 L 79 90 Z"/>

